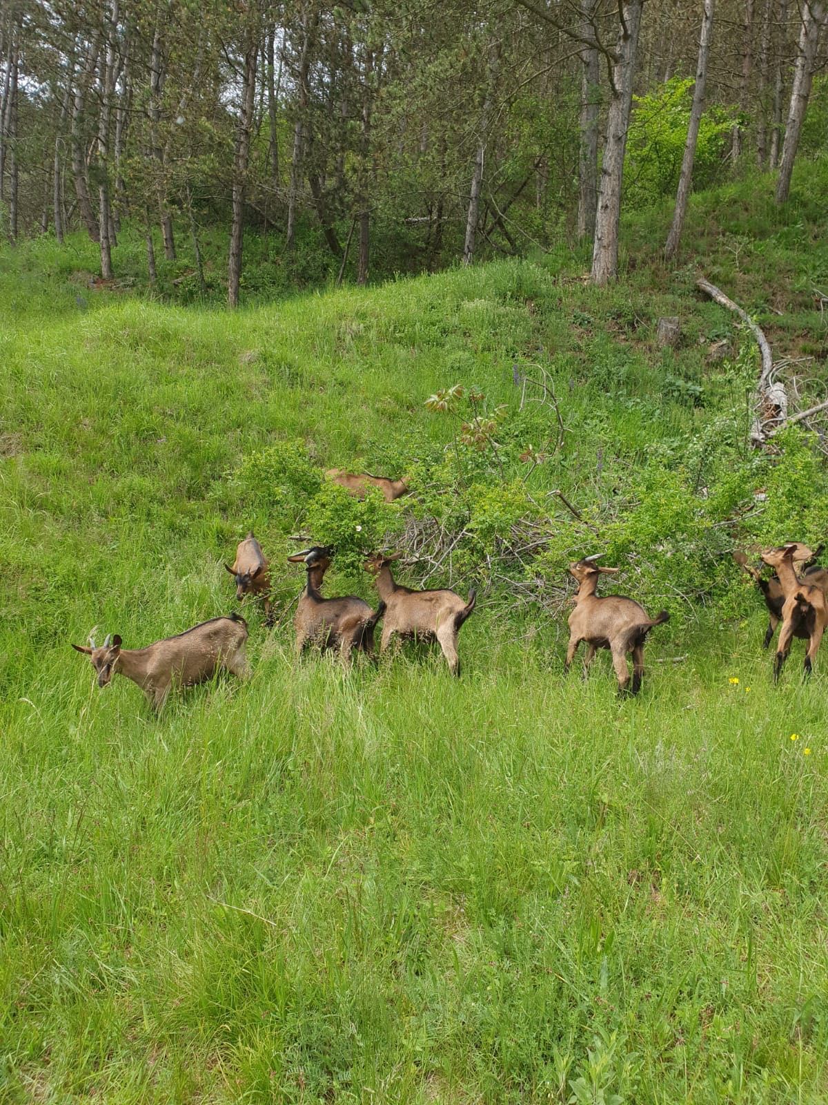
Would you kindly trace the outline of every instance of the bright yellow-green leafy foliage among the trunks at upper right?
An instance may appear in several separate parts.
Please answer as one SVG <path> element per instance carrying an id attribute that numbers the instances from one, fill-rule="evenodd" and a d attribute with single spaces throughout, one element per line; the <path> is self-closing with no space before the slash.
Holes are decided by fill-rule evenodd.
<path id="1" fill-rule="evenodd" d="M 634 97 L 624 170 L 626 201 L 634 207 L 675 194 L 678 188 L 693 84 L 690 77 L 675 76 L 649 95 Z M 735 122 L 733 113 L 720 105 L 703 113 L 693 161 L 697 190 L 716 180 Z"/>

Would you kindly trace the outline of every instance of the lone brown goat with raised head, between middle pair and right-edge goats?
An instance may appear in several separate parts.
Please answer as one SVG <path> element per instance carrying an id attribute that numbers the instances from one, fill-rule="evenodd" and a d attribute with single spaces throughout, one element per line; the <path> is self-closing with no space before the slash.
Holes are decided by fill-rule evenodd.
<path id="1" fill-rule="evenodd" d="M 601 554 L 584 557 L 570 565 L 570 572 L 578 582 L 575 592 L 575 609 L 570 614 L 570 643 L 566 649 L 564 671 L 575 657 L 582 641 L 586 641 L 584 657 L 584 674 L 595 656 L 596 649 L 609 649 L 613 654 L 613 667 L 618 680 L 618 694 L 624 694 L 629 684 L 627 653 L 633 653 L 633 686 L 631 693 L 638 694 L 644 677 L 644 642 L 655 625 L 661 625 L 670 615 L 666 610 L 652 619 L 647 615 L 644 607 L 633 599 L 620 594 L 608 594 L 598 598 L 595 589 L 598 576 L 604 572 L 614 576 L 618 568 L 598 568 L 595 560 Z"/>

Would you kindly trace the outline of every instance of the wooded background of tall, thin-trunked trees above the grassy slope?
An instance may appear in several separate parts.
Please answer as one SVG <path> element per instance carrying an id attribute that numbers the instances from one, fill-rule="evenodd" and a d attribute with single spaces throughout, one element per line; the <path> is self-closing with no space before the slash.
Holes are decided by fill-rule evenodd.
<path id="1" fill-rule="evenodd" d="M 828 146 L 825 0 L 2 0 L 0 229 L 77 227 L 100 276 L 126 220 L 176 257 L 227 227 L 339 281 L 593 240 L 622 204 Z M 816 77 L 816 81 L 814 80 Z M 806 123 L 809 99 L 810 112 Z"/>

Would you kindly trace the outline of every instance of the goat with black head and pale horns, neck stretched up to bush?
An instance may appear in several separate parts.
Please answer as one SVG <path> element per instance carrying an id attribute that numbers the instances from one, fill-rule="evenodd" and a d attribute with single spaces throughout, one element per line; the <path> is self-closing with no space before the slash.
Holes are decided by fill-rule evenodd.
<path id="1" fill-rule="evenodd" d="M 319 593 L 322 577 L 330 567 L 331 550 L 314 546 L 304 552 L 289 556 L 289 564 L 304 564 L 308 581 L 296 608 L 296 654 L 308 644 L 322 649 L 339 648 L 342 661 L 348 664 L 354 649 L 372 653 L 374 627 L 385 611 L 381 602 L 374 611 L 362 599 L 350 594 L 341 599 L 323 599 Z"/>

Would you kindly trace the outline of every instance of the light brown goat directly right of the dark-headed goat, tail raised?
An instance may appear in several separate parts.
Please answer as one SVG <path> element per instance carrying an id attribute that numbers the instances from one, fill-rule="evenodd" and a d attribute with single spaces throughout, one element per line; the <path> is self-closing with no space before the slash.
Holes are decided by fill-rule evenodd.
<path id="1" fill-rule="evenodd" d="M 375 579 L 376 590 L 385 603 L 385 619 L 382 625 L 380 652 L 384 652 L 392 636 L 416 636 L 425 641 L 438 641 L 443 655 L 453 675 L 460 674 L 457 655 L 457 634 L 460 627 L 475 609 L 476 591 L 469 591 L 468 602 L 464 602 L 454 591 L 413 591 L 394 582 L 389 564 L 399 555 L 383 556 L 381 552 L 365 560 L 365 571 Z"/>

